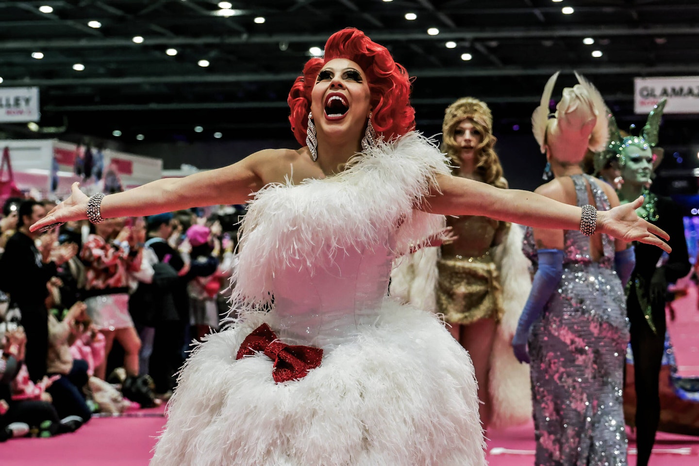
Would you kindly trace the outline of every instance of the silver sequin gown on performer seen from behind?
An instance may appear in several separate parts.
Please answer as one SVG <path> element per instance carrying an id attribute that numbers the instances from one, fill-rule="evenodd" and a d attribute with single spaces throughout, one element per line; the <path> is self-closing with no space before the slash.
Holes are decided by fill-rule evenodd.
<path id="1" fill-rule="evenodd" d="M 598 210 L 609 200 L 597 182 L 574 175 L 577 205 Z M 626 299 L 614 272 L 614 240 L 603 235 L 604 256 L 589 254 L 589 238 L 565 231 L 563 274 L 557 293 L 535 321 L 528 342 L 536 437 L 536 465 L 626 466 L 622 402 L 629 340 Z M 528 228 L 524 252 L 535 263 Z"/>

